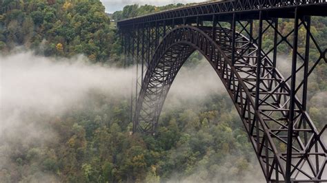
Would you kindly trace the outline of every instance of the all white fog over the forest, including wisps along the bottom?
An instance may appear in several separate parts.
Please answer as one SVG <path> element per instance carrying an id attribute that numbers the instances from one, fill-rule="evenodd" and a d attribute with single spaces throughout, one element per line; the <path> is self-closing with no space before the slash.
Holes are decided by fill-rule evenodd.
<path id="1" fill-rule="evenodd" d="M 288 65 L 286 60 L 281 64 L 284 68 Z M 12 160 L 7 149 L 20 149 L 30 143 L 43 146 L 56 140 L 52 129 L 40 125 L 47 122 L 43 120 L 44 115 L 61 116 L 66 111 L 79 109 L 95 91 L 105 96 L 128 98 L 134 76 L 135 67 L 121 69 L 92 64 L 84 56 L 46 58 L 35 56 L 33 52 L 0 56 L 0 170 L 10 169 Z M 182 67 L 165 107 L 178 107 L 184 100 L 201 100 L 212 94 L 227 92 L 214 69 L 207 61 L 201 61 L 197 67 Z M 315 106 L 326 108 L 326 92 L 316 94 L 313 100 L 317 100 Z M 257 182 L 264 181 L 257 160 L 250 166 L 253 166 L 247 173 L 250 176 L 241 180 L 254 182 L 255 177 Z M 201 165 L 197 169 L 200 170 Z M 222 173 L 224 170 L 217 173 L 217 181 L 224 176 Z M 184 177 L 183 182 L 198 182 L 197 176 L 194 173 Z M 180 178 L 172 175 L 170 182 L 180 181 Z M 40 173 L 36 182 L 49 179 L 56 178 Z"/>

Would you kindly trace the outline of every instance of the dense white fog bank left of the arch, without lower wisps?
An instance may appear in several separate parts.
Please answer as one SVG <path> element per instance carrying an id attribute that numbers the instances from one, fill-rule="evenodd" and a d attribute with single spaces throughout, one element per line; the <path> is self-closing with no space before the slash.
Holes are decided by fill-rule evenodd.
<path id="1" fill-rule="evenodd" d="M 81 102 L 89 92 L 125 96 L 132 68 L 88 63 L 83 56 L 56 61 L 24 52 L 0 58 L 1 129 L 19 122 L 27 111 L 58 115 Z"/>

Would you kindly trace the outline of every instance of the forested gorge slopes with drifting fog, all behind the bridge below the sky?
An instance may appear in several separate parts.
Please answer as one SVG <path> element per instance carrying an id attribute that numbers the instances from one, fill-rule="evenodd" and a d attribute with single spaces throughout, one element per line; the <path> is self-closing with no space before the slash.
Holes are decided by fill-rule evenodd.
<path id="1" fill-rule="evenodd" d="M 180 6 L 108 17 L 99 0 L 0 1 L 0 182 L 264 182 L 230 96 L 198 52 L 170 89 L 158 133 L 131 135 L 137 65 L 124 67 L 115 21 Z M 327 19 L 313 25 L 326 49 Z M 268 34 L 263 46 L 272 43 Z M 287 75 L 290 47 L 278 52 Z M 326 82 L 319 63 L 308 86 L 317 129 L 327 121 Z"/>

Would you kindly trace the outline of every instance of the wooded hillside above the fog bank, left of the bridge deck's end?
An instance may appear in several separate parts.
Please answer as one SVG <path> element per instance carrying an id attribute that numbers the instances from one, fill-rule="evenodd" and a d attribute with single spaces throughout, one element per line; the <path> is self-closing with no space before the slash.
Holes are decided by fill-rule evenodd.
<path id="1" fill-rule="evenodd" d="M 115 30 L 100 1 L 1 1 L 0 7 L 1 52 L 23 46 L 45 56 L 110 58 Z"/>

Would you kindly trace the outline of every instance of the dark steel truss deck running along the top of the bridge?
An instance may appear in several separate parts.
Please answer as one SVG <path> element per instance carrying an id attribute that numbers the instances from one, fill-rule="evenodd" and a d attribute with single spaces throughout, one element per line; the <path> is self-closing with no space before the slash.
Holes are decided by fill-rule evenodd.
<path id="1" fill-rule="evenodd" d="M 212 3 L 203 3 L 196 6 L 188 6 L 155 14 L 148 14 L 142 17 L 126 19 L 119 21 L 119 28 L 142 23 L 160 23 L 162 21 L 174 20 L 176 24 L 188 21 L 194 23 L 197 17 L 201 17 L 201 21 L 210 21 L 213 14 L 221 16 L 230 16 L 237 12 L 246 15 L 247 19 L 257 19 L 250 17 L 253 12 L 259 10 L 268 11 L 270 17 L 292 18 L 295 7 L 302 7 L 304 14 L 311 16 L 327 16 L 327 0 L 231 0 Z M 281 11 L 283 9 L 283 11 Z M 187 20 L 186 20 L 187 19 Z"/>

